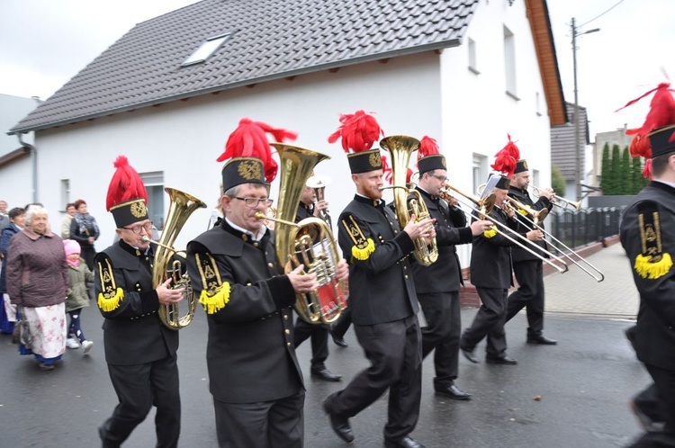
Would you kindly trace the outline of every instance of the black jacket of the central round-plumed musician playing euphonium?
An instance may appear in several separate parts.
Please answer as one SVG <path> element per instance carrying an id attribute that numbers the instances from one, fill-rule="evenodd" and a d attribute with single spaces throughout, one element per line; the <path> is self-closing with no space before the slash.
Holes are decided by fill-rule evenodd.
<path id="1" fill-rule="evenodd" d="M 363 260 L 352 256 L 356 228 L 374 244 L 374 252 Z M 354 237 L 358 240 L 360 235 Z M 338 244 L 349 263 L 349 308 L 355 325 L 393 322 L 418 312 L 408 260 L 415 246 L 393 211 L 356 195 L 340 214 Z"/>

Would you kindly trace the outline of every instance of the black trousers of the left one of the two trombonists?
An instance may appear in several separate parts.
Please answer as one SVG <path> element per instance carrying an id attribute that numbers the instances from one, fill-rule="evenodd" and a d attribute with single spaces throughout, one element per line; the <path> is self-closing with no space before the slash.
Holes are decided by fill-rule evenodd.
<path id="1" fill-rule="evenodd" d="M 485 351 L 488 356 L 504 356 L 507 348 L 504 324 L 509 290 L 476 286 L 476 291 L 482 305 L 473 318 L 471 327 L 464 330 L 460 344 L 467 350 L 473 350 L 487 336 L 488 345 Z"/>

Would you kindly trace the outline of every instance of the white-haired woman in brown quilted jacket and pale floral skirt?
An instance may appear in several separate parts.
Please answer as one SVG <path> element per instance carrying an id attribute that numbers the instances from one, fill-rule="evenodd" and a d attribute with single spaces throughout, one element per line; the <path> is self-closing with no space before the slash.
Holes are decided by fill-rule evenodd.
<path id="1" fill-rule="evenodd" d="M 31 206 L 25 227 L 9 243 L 6 281 L 31 329 L 32 345 L 21 345 L 21 353 L 34 354 L 41 370 L 54 370 L 66 351 L 67 263 L 61 238 L 40 206 Z"/>

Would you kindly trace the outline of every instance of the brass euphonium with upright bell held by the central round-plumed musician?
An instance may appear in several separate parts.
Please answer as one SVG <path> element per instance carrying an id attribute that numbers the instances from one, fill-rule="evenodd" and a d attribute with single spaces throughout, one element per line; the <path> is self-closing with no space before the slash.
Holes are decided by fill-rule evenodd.
<path id="1" fill-rule="evenodd" d="M 417 190 L 408 188 L 406 184 L 410 156 L 419 148 L 419 140 L 405 135 L 394 135 L 380 140 L 380 147 L 391 154 L 394 206 L 401 228 L 408 224 L 412 215 L 415 215 L 418 221 L 427 220 L 429 218 L 427 204 Z M 410 195 L 413 197 L 409 200 Z M 416 238 L 413 242 L 415 243 L 413 255 L 419 263 L 428 266 L 437 260 L 436 238 L 429 245 L 423 237 Z"/>

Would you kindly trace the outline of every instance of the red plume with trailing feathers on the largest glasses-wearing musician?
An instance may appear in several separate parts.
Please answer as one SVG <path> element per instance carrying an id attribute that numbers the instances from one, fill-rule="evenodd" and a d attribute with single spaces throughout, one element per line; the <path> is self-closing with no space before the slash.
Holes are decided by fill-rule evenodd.
<path id="1" fill-rule="evenodd" d="M 234 157 L 257 157 L 263 161 L 263 166 L 265 166 L 266 181 L 272 182 L 275 180 L 279 166 L 272 158 L 266 133 L 272 134 L 278 142 L 284 142 L 286 139 L 294 140 L 298 137 L 298 134 L 291 130 L 277 129 L 261 121 L 242 118 L 237 129 L 229 134 L 228 141 L 225 143 L 225 152 L 216 160 L 222 162 Z"/>

